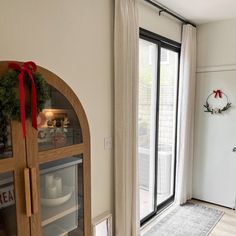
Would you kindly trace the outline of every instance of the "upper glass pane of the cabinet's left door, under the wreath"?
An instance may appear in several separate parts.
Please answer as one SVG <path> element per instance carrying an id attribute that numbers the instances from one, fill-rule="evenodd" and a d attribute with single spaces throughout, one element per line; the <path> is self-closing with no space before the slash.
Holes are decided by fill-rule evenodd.
<path id="1" fill-rule="evenodd" d="M 0 118 L 0 159 L 12 157 L 11 126 Z"/>

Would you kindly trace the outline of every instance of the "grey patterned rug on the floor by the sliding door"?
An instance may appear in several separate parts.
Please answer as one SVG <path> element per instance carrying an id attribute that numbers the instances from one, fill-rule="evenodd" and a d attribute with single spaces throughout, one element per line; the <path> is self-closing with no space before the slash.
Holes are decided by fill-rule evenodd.
<path id="1" fill-rule="evenodd" d="M 143 236 L 206 236 L 223 214 L 216 209 L 187 203 L 174 209 Z"/>

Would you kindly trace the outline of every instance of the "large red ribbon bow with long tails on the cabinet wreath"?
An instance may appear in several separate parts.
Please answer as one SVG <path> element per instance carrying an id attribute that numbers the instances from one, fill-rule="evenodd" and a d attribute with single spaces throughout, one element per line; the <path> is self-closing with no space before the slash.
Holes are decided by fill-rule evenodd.
<path id="1" fill-rule="evenodd" d="M 25 126 L 25 89 L 24 89 L 24 76 L 31 81 L 31 119 L 32 126 L 37 129 L 37 95 L 34 84 L 34 78 L 32 72 L 37 70 L 37 66 L 34 62 L 28 61 L 25 62 L 22 66 L 18 65 L 15 62 L 9 63 L 8 68 L 19 71 L 18 80 L 19 80 L 19 89 L 20 89 L 20 118 L 23 136 L 26 136 L 26 126 Z"/>

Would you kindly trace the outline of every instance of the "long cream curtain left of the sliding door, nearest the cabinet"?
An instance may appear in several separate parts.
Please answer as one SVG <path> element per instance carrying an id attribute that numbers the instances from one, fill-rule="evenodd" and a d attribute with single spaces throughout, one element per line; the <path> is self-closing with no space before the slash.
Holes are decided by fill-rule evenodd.
<path id="1" fill-rule="evenodd" d="M 139 234 L 136 156 L 139 26 L 135 0 L 115 0 L 115 235 Z"/>

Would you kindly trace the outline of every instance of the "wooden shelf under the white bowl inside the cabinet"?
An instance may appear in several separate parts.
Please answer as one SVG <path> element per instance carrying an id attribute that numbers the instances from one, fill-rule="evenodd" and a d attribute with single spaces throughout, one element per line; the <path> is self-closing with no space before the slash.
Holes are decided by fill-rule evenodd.
<path id="1" fill-rule="evenodd" d="M 42 226 L 46 226 L 56 220 L 63 218 L 81 208 L 80 204 L 75 205 L 75 195 L 72 195 L 71 199 L 55 207 L 42 206 Z"/>

